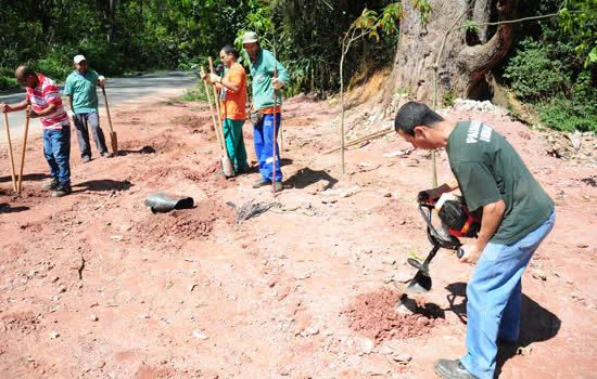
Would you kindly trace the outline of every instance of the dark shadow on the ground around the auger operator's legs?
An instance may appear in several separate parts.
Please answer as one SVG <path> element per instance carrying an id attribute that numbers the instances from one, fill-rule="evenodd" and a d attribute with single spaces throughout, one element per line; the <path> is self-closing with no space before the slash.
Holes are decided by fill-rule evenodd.
<path id="1" fill-rule="evenodd" d="M 460 321 L 467 323 L 467 284 L 454 283 L 446 287 L 449 308 L 445 311 L 454 312 Z M 561 321 L 554 313 L 541 306 L 533 299 L 522 293 L 520 313 L 520 337 L 518 347 L 504 347 L 497 353 L 495 377 L 501 374 L 504 364 L 512 356 L 519 354 L 520 348 L 526 348 L 532 343 L 547 341 L 558 335 Z M 465 342 L 465 341 L 462 341 Z"/>

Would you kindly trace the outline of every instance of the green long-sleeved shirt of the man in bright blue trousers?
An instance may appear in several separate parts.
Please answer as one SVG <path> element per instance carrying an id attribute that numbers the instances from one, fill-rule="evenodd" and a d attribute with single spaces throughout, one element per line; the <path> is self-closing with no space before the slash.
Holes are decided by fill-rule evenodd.
<path id="1" fill-rule="evenodd" d="M 276 61 L 274 54 L 267 50 L 259 49 L 257 58 L 250 64 L 251 77 L 253 79 L 253 104 L 255 109 L 264 109 L 274 106 L 274 88 L 271 78 L 274 78 L 274 68 L 278 68 L 278 78 L 284 84 L 288 84 L 289 75 L 287 69 Z M 277 104 L 282 104 L 282 96 L 278 95 Z"/>

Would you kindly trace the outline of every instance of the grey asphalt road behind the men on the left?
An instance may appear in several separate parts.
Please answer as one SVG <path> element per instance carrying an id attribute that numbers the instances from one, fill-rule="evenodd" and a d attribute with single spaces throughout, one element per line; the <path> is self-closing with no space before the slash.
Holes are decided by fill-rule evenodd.
<path id="1" fill-rule="evenodd" d="M 107 78 L 105 91 L 107 96 L 107 105 L 110 106 L 111 116 L 114 110 L 123 104 L 134 104 L 147 102 L 151 99 L 166 99 L 182 94 L 185 89 L 188 89 L 198 82 L 198 78 L 192 71 L 169 71 L 160 74 L 148 74 L 135 77 L 125 78 Z M 60 86 L 61 92 L 64 86 Z M 17 92 L 0 95 L 0 102 L 7 104 L 16 104 L 25 99 L 25 89 Z M 104 101 L 101 89 L 98 88 L 99 112 L 102 116 L 104 110 Z M 66 99 L 63 96 L 63 101 Z M 9 113 L 9 126 L 11 130 L 11 141 L 18 140 L 23 136 L 25 127 L 25 112 Z M 114 117 L 112 116 L 113 120 Z M 105 118 L 103 119 L 105 120 Z M 0 143 L 7 142 L 7 132 L 3 126 L 0 131 Z M 100 121 L 104 132 L 107 129 L 106 121 Z M 39 119 L 29 121 L 29 134 L 41 132 L 41 123 Z M 14 147 L 14 146 L 13 146 Z"/>

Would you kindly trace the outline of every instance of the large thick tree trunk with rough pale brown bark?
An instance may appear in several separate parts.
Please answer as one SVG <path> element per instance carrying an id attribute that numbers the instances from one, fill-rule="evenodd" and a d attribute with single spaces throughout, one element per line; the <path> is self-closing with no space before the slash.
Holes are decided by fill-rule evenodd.
<path id="1" fill-rule="evenodd" d="M 445 34 L 467 19 L 479 23 L 513 19 L 518 0 L 428 0 L 431 12 L 425 24 L 412 0 L 403 1 L 399 41 L 384 100 L 395 92 L 409 92 L 417 100 L 431 101 L 434 65 Z M 488 99 L 488 71 L 510 49 L 513 24 L 480 26 L 478 34 L 455 28 L 449 32 L 437 65 L 437 103 L 450 92 L 461 97 Z M 493 35 L 491 35 L 493 32 Z"/>

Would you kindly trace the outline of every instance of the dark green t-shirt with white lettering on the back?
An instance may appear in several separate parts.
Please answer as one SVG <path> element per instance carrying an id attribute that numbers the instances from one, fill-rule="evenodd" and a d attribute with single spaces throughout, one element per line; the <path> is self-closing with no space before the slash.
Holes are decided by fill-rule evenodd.
<path id="1" fill-rule="evenodd" d="M 504 218 L 491 239 L 511 244 L 543 224 L 555 202 L 531 174 L 512 145 L 490 126 L 458 122 L 446 152 L 452 172 L 471 212 L 503 199 Z"/>

